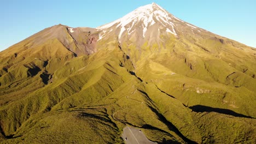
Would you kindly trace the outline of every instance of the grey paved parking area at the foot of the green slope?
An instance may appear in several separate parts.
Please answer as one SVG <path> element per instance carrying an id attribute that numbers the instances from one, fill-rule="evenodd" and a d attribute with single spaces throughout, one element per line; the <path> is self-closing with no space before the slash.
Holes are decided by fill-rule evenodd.
<path id="1" fill-rule="evenodd" d="M 122 137 L 126 144 L 156 144 L 149 141 L 142 131 L 137 128 L 125 127 Z"/>

